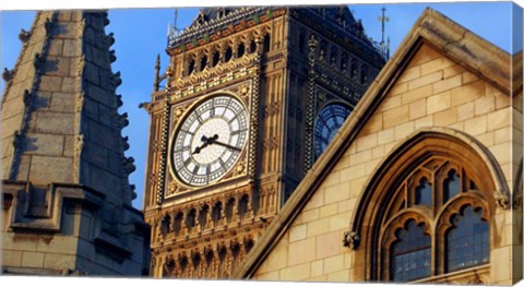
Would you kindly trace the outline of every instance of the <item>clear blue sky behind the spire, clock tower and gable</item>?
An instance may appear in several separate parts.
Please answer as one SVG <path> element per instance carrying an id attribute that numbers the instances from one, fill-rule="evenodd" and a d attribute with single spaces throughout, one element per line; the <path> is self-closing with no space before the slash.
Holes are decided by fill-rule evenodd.
<path id="1" fill-rule="evenodd" d="M 349 5 L 355 17 L 362 20 L 368 36 L 376 40 L 381 38 L 378 16 L 381 15 L 382 7 L 383 4 Z M 390 17 L 385 34 L 391 38 L 392 55 L 426 7 L 433 8 L 509 52 L 522 49 L 522 24 L 512 24 L 512 20 L 517 20 L 515 23 L 520 20 L 522 23 L 522 9 L 511 2 L 388 3 L 384 7 L 386 16 Z M 198 9 L 180 8 L 178 26 L 186 27 L 196 14 Z M 31 27 L 34 15 L 34 11 L 0 12 L 1 70 L 4 67 L 14 67 L 21 49 L 17 34 L 21 28 Z M 117 61 L 112 64 L 112 70 L 121 72 L 122 85 L 117 89 L 117 94 L 122 95 L 123 106 L 119 111 L 128 112 L 130 120 L 122 134 L 130 139 L 131 147 L 127 151 L 127 156 L 135 158 L 136 170 L 130 176 L 130 182 L 136 186 L 139 193 L 139 198 L 133 202 L 136 208 L 142 208 L 150 124 L 147 112 L 138 106 L 151 98 L 158 53 L 162 70 L 166 68 L 167 26 L 168 23 L 174 23 L 174 9 L 109 10 L 110 24 L 106 27 L 106 33 L 112 32 L 116 38 L 112 49 L 116 50 Z M 3 81 L 0 89 L 3 95 Z"/>

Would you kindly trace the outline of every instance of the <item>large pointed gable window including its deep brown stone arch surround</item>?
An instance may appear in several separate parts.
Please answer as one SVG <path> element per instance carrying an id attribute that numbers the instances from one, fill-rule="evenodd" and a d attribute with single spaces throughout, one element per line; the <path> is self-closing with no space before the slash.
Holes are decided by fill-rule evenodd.
<path id="1" fill-rule="evenodd" d="M 508 193 L 501 168 L 478 142 L 433 129 L 392 151 L 360 198 L 355 260 L 377 263 L 365 280 L 489 280 L 493 191 Z"/>

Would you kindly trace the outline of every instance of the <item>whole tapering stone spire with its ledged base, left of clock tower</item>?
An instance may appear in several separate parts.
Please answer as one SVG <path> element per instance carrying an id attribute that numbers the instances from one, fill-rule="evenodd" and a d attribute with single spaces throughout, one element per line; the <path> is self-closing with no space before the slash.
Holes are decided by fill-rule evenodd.
<path id="1" fill-rule="evenodd" d="M 141 275 L 148 228 L 131 206 L 105 12 L 39 12 L 4 70 L 2 272 Z"/>

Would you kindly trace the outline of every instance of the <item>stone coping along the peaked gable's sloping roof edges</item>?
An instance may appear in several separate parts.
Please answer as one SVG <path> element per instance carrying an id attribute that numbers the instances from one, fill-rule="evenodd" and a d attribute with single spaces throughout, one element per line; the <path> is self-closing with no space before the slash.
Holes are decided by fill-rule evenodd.
<path id="1" fill-rule="evenodd" d="M 273 218 L 265 234 L 233 274 L 233 278 L 250 278 L 257 272 L 263 260 L 309 202 L 317 188 L 354 142 L 422 43 L 471 70 L 507 95 L 512 95 L 512 89 L 517 88 L 511 83 L 512 57 L 508 52 L 440 12 L 427 8 L 365 93 L 337 135 L 300 181 L 285 206 Z"/>

